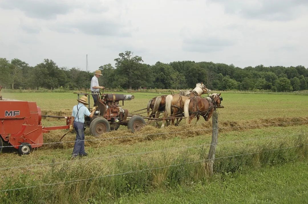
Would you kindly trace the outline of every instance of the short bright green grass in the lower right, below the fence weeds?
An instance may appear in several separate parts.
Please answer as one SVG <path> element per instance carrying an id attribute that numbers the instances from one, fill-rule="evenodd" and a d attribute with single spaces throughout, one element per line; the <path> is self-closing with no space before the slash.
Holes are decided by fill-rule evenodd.
<path id="1" fill-rule="evenodd" d="M 122 197 L 115 203 L 307 203 L 307 172 L 307 161 L 266 166 L 173 190 Z"/>

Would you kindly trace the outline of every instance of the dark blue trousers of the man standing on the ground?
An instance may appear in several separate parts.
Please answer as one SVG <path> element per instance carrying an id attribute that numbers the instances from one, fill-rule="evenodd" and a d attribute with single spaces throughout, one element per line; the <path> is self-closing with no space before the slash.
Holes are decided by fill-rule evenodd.
<path id="1" fill-rule="evenodd" d="M 84 124 L 82 122 L 74 121 L 74 128 L 77 134 L 72 155 L 77 156 L 78 154 L 85 154 L 86 152 L 84 151 L 84 132 L 83 132 Z"/>

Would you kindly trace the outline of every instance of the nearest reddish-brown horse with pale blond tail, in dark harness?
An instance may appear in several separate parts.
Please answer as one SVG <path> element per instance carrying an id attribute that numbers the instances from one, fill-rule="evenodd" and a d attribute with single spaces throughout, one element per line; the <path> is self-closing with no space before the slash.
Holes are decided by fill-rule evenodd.
<path id="1" fill-rule="evenodd" d="M 216 107 L 219 107 L 222 101 L 221 94 L 211 94 L 209 97 L 198 97 L 194 96 L 187 99 L 184 103 L 184 117 L 186 124 L 190 122 L 197 116 L 196 124 L 200 118 L 200 115 L 203 116 L 205 121 L 208 121 L 215 110 Z"/>

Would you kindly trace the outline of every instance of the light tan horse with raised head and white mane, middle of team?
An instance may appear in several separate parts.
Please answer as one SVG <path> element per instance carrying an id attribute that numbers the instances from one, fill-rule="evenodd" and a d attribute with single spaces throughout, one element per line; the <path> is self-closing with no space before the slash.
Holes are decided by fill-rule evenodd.
<path id="1" fill-rule="evenodd" d="M 179 117 L 181 114 L 183 114 L 184 110 L 184 103 L 187 99 L 193 96 L 201 96 L 202 94 L 207 94 L 211 90 L 207 89 L 205 85 L 201 83 L 196 84 L 196 88 L 194 88 L 192 91 L 190 91 L 189 94 L 181 95 L 181 94 L 174 94 L 174 95 L 168 95 L 166 97 L 166 107 L 165 107 L 165 114 L 164 118 L 167 118 L 170 116 L 172 119 L 172 125 L 174 124 L 174 117 Z M 178 125 L 181 122 L 182 118 L 178 121 L 178 118 L 176 118 L 176 125 Z M 164 124 L 165 119 L 163 119 L 163 124 L 161 125 L 161 128 L 165 126 Z M 168 124 L 167 124 L 168 125 Z"/>

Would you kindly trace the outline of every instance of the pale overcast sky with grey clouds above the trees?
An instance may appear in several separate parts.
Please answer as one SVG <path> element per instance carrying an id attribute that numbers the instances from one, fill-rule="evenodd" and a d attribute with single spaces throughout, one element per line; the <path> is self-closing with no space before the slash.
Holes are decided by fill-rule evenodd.
<path id="1" fill-rule="evenodd" d="M 191 60 L 308 67 L 307 0 L 0 0 L 0 57 L 89 70 L 130 50 Z"/>

